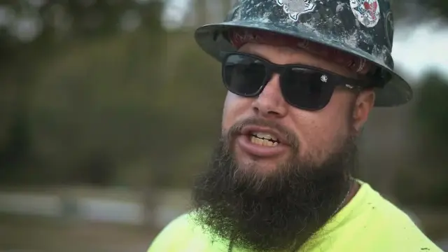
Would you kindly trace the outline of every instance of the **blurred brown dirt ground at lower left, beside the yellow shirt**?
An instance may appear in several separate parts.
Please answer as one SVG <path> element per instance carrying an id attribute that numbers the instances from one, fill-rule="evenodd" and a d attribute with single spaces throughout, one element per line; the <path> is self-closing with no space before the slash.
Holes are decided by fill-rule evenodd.
<path id="1" fill-rule="evenodd" d="M 157 232 L 131 225 L 0 216 L 0 251 L 146 251 Z"/>

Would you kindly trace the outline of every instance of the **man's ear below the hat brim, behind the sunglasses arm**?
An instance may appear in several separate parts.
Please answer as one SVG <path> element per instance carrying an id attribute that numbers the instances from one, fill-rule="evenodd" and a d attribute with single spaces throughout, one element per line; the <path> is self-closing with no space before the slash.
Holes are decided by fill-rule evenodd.
<path id="1" fill-rule="evenodd" d="M 360 131 L 361 127 L 367 121 L 370 111 L 372 111 L 375 102 L 375 93 L 373 90 L 363 90 L 358 94 L 353 107 L 353 127 Z"/>

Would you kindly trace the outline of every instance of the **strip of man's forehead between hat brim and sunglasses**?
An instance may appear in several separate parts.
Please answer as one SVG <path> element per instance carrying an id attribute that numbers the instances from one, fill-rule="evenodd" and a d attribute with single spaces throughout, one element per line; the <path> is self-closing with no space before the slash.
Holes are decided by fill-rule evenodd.
<path id="1" fill-rule="evenodd" d="M 262 43 L 246 43 L 239 48 L 239 51 L 257 55 L 275 64 L 304 64 L 332 71 L 346 77 L 354 78 L 356 76 L 354 71 L 300 48 Z"/>

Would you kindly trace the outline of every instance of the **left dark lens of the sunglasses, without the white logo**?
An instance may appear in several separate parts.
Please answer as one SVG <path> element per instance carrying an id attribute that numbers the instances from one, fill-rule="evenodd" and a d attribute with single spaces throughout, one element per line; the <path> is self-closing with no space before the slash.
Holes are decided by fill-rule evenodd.
<path id="1" fill-rule="evenodd" d="M 230 55 L 223 62 L 223 82 L 235 94 L 245 97 L 258 94 L 265 76 L 266 67 L 259 59 Z"/>

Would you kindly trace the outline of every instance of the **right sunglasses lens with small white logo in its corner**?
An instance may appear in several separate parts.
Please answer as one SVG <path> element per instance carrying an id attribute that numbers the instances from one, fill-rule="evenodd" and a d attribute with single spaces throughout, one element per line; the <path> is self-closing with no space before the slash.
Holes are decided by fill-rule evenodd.
<path id="1" fill-rule="evenodd" d="M 288 69 L 280 81 L 286 102 L 299 109 L 323 109 L 334 90 L 328 75 L 312 69 Z"/>

